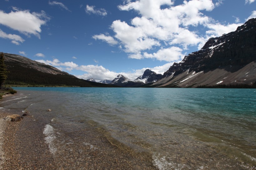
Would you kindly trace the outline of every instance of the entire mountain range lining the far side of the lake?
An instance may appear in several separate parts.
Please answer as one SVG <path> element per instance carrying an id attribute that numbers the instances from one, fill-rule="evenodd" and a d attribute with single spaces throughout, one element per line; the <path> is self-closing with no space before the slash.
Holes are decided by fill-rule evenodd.
<path id="1" fill-rule="evenodd" d="M 6 84 L 77 87 L 256 87 L 256 19 L 236 31 L 210 38 L 199 51 L 174 63 L 163 75 L 146 69 L 135 80 L 119 74 L 114 80 L 76 78 L 50 65 L 4 53 Z"/>

